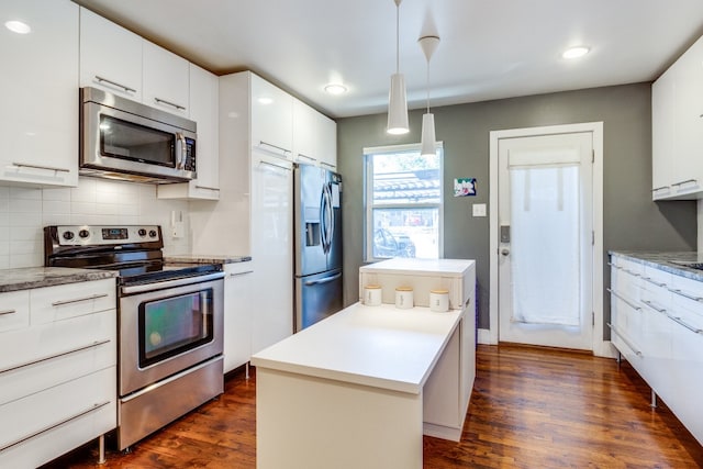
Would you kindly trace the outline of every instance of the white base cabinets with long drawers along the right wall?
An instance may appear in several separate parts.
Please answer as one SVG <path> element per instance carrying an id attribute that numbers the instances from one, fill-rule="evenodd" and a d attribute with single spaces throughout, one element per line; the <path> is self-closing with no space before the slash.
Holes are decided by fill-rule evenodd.
<path id="1" fill-rule="evenodd" d="M 650 266 L 623 280 L 623 259 L 612 259 L 611 342 L 703 444 L 703 282 Z"/>

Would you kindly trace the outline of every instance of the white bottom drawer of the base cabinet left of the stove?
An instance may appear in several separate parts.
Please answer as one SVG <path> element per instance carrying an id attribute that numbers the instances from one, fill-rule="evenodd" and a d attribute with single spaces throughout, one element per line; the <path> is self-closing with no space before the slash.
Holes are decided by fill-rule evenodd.
<path id="1" fill-rule="evenodd" d="M 44 432 L 54 432 L 57 425 L 114 405 L 115 392 L 116 370 L 110 367 L 0 405 L 0 422 L 12 422 L 12 425 L 0 425 L 0 458 L 8 449 L 22 445 Z M 103 427 L 108 431 L 113 428 L 116 412 L 113 412 L 111 421 L 105 423 Z M 100 433 L 102 429 L 96 435 Z M 56 436 L 62 438 L 59 435 Z"/>

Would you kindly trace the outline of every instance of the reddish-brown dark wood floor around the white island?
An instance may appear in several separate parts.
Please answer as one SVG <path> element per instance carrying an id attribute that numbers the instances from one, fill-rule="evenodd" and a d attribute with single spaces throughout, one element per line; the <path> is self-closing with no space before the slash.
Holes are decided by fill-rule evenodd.
<path id="1" fill-rule="evenodd" d="M 703 447 L 627 365 L 587 354 L 479 346 L 460 443 L 424 438 L 424 467 L 696 468 Z M 256 378 L 97 466 L 92 443 L 48 468 L 255 468 Z M 702 394 L 703 398 L 703 394 Z M 703 416 L 702 416 L 703 417 Z M 284 469 L 284 468 L 282 468 Z"/>

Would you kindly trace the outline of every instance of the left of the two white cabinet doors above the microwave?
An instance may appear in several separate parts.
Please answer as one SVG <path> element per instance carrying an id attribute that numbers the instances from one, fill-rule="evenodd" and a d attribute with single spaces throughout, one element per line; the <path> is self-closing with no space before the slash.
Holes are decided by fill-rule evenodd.
<path id="1" fill-rule="evenodd" d="M 142 101 L 142 37 L 80 9 L 80 86 Z"/>

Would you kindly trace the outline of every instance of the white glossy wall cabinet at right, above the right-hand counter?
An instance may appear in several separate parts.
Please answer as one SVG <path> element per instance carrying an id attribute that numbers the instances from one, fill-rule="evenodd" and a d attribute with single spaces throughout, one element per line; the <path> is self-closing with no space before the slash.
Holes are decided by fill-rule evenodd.
<path id="1" fill-rule="evenodd" d="M 703 37 L 651 88 L 652 198 L 703 198 Z"/>

